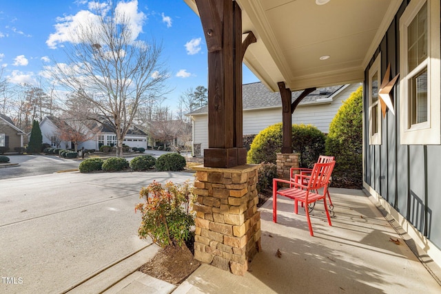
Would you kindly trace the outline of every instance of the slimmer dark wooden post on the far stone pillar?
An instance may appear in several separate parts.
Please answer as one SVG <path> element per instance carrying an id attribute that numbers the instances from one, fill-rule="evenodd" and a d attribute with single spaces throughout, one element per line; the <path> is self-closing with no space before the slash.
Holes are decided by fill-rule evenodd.
<path id="1" fill-rule="evenodd" d="M 282 98 L 282 153 L 292 153 L 292 118 L 291 118 L 291 97 L 292 92 L 286 87 L 285 82 L 278 82 L 280 98 Z"/>

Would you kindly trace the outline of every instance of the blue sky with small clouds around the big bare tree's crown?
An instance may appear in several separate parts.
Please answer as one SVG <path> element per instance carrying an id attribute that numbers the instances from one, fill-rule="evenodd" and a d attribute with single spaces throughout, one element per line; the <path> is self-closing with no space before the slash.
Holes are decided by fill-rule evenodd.
<path id="1" fill-rule="evenodd" d="M 120 2 L 120 1 L 119 1 Z M 163 58 L 170 70 L 164 105 L 175 109 L 189 87 L 207 87 L 207 45 L 201 21 L 183 0 L 124 1 L 138 21 L 139 39 L 163 42 Z M 11 83 L 39 85 L 50 59 L 63 61 L 63 30 L 81 21 L 91 1 L 0 0 L 0 66 Z M 258 79 L 245 68 L 244 83 Z M 45 81 L 43 81 L 44 83 Z"/>

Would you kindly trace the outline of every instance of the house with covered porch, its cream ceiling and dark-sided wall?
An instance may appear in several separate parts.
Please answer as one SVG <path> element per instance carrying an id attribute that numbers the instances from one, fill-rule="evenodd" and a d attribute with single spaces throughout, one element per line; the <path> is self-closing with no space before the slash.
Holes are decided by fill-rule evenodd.
<path id="1" fill-rule="evenodd" d="M 440 0 L 315 2 L 239 0 L 244 63 L 276 91 L 363 82 L 363 186 L 441 265 Z"/>

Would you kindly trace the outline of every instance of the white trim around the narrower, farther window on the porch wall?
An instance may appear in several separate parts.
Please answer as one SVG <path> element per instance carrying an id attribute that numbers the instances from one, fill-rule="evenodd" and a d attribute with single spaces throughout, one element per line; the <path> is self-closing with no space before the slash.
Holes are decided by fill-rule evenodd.
<path id="1" fill-rule="evenodd" d="M 377 85 L 378 91 L 380 90 L 381 85 L 381 52 L 378 54 L 375 61 L 373 61 L 371 68 L 369 68 L 369 85 L 367 90 L 367 95 L 369 99 L 369 145 L 381 145 L 381 129 L 382 129 L 382 116 L 381 116 L 381 105 L 380 105 L 380 96 L 378 96 L 377 105 L 377 123 L 378 123 L 378 132 L 376 134 L 372 134 L 372 111 L 371 111 L 371 101 L 372 101 L 372 77 L 377 74 Z"/>

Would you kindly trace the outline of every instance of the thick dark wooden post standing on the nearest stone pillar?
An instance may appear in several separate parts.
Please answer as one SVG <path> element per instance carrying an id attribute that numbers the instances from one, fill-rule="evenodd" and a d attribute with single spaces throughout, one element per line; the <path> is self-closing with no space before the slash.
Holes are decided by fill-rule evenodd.
<path id="1" fill-rule="evenodd" d="M 205 167 L 245 165 L 243 148 L 242 14 L 236 1 L 196 0 L 208 49 L 208 149 Z M 253 42 L 254 37 L 254 42 Z"/>

